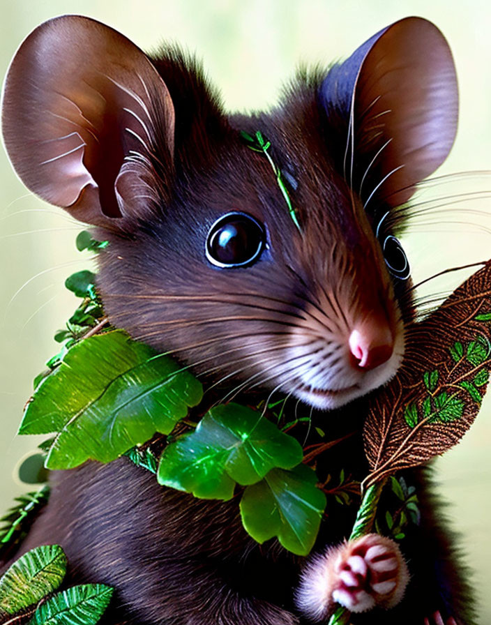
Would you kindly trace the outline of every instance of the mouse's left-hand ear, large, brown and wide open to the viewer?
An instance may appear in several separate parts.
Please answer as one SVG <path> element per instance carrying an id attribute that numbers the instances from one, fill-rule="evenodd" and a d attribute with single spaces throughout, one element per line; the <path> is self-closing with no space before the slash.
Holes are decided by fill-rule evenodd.
<path id="1" fill-rule="evenodd" d="M 142 50 L 113 29 L 74 15 L 41 24 L 10 64 L 2 114 L 17 174 L 73 217 L 112 229 L 158 202 L 174 107 Z"/>

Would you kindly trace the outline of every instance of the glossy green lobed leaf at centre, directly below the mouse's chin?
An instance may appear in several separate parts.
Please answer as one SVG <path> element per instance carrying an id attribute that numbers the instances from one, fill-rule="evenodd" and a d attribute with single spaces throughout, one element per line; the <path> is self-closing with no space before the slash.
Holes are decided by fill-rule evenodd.
<path id="1" fill-rule="evenodd" d="M 205 499 L 230 499 L 235 482 L 248 485 L 273 467 L 302 461 L 301 445 L 261 413 L 238 404 L 212 408 L 195 432 L 164 450 L 159 483 Z"/>

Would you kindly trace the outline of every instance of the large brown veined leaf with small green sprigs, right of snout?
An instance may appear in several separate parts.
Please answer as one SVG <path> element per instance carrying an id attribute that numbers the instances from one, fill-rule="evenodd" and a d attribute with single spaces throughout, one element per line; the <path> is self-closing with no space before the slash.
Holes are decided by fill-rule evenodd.
<path id="1" fill-rule="evenodd" d="M 417 340 L 409 340 L 398 374 L 370 400 L 363 432 L 371 468 L 365 488 L 444 453 L 471 426 L 487 386 L 481 371 L 491 366 L 491 324 L 476 317 L 490 308 L 491 260 L 432 315 L 407 326 L 407 336 Z M 437 387 L 429 404 L 428 391 Z"/>

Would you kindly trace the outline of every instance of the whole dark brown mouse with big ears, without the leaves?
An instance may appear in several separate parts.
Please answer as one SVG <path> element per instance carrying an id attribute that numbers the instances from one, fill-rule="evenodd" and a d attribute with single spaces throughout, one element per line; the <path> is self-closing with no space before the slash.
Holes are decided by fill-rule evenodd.
<path id="1" fill-rule="evenodd" d="M 56 17 L 20 46 L 2 104 L 27 188 L 109 242 L 97 289 L 112 326 L 190 367 L 210 404 L 292 398 L 340 440 L 319 481 L 367 472 L 364 407 L 400 368 L 415 314 L 404 206 L 457 119 L 451 50 L 420 17 L 300 70 L 252 114 L 228 114 L 179 47 L 149 56 L 105 24 Z M 255 543 L 233 502 L 163 488 L 127 458 L 86 462 L 52 473 L 13 558 L 61 545 L 66 585 L 114 587 L 108 625 L 327 623 L 338 604 L 352 625 L 471 625 L 430 469 L 404 479 L 421 518 L 400 545 L 346 541 L 354 511 L 333 506 L 297 557 Z"/>

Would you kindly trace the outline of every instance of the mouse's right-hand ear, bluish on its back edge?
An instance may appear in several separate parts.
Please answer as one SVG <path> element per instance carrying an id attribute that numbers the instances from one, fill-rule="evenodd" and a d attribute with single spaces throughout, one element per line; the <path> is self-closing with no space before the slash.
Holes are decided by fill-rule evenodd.
<path id="1" fill-rule="evenodd" d="M 320 97 L 331 119 L 345 121 L 342 168 L 365 204 L 406 202 L 453 145 L 452 54 L 437 27 L 420 17 L 395 22 L 334 66 Z"/>

